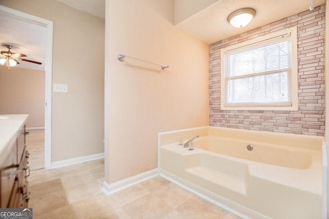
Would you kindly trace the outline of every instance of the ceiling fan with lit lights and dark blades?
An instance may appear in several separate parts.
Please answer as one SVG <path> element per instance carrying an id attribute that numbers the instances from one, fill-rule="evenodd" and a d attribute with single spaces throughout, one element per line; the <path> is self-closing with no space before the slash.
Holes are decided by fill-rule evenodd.
<path id="1" fill-rule="evenodd" d="M 5 63 L 7 64 L 8 70 L 10 70 L 11 66 L 16 66 L 17 64 L 20 64 L 17 60 L 19 61 L 25 61 L 25 62 L 31 62 L 34 64 L 41 65 L 41 62 L 36 62 L 28 59 L 22 59 L 21 57 L 26 57 L 25 54 L 22 53 L 13 53 L 10 51 L 12 49 L 11 45 L 5 45 L 8 49 L 8 51 L 1 51 L 0 54 L 0 64 L 4 65 Z"/>

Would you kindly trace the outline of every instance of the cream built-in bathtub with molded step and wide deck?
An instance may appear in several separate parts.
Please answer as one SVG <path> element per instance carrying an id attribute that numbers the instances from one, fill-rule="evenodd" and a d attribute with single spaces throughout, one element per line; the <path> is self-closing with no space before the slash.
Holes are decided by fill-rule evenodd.
<path id="1" fill-rule="evenodd" d="M 195 135 L 194 151 L 178 145 Z M 321 218 L 324 147 L 319 136 L 200 127 L 159 134 L 159 170 L 247 217 Z"/>

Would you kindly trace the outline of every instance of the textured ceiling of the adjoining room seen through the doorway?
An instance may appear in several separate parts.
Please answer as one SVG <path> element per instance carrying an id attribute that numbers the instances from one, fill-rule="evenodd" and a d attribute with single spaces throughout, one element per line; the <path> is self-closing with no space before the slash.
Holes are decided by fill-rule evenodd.
<path id="1" fill-rule="evenodd" d="M 11 52 L 26 54 L 22 58 L 42 63 L 19 61 L 16 67 L 45 70 L 46 27 L 0 13 L 0 30 L 0 51 L 8 51 L 4 45 L 9 44 L 13 46 Z"/>

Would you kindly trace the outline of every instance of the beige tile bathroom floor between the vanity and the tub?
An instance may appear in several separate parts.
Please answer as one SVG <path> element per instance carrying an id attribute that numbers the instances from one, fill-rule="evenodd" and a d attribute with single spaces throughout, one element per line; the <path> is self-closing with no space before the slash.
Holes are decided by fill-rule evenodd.
<path id="1" fill-rule="evenodd" d="M 160 176 L 106 196 L 104 160 L 29 176 L 33 218 L 240 218 Z"/>

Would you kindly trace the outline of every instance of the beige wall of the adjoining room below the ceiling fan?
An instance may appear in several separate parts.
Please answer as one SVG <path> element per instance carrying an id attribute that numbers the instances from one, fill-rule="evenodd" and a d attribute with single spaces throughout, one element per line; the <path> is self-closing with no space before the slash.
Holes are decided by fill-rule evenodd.
<path id="1" fill-rule="evenodd" d="M 0 65 L 1 114 L 29 114 L 26 127 L 44 127 L 45 71 Z"/>

